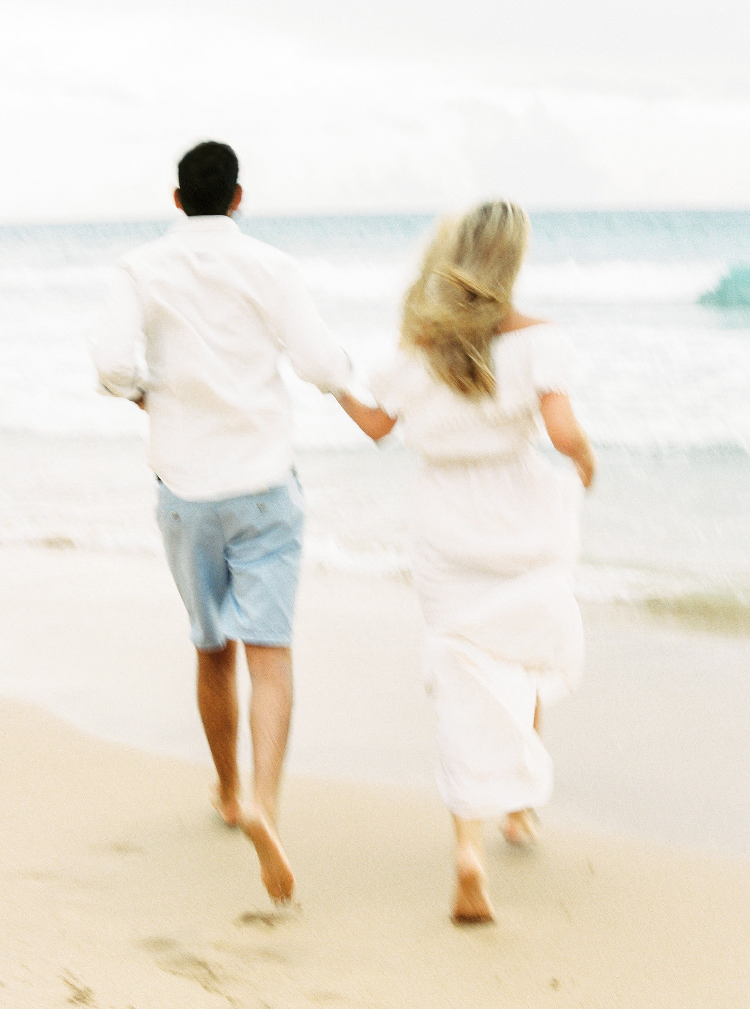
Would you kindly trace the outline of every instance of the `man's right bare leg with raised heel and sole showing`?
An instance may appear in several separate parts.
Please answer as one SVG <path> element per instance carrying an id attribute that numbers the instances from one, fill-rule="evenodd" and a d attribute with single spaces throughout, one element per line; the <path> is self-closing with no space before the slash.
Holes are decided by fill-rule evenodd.
<path id="1" fill-rule="evenodd" d="M 253 801 L 242 828 L 255 848 L 263 885 L 274 901 L 291 897 L 294 875 L 276 832 L 276 804 L 291 715 L 288 648 L 246 645 L 250 670 Z"/>

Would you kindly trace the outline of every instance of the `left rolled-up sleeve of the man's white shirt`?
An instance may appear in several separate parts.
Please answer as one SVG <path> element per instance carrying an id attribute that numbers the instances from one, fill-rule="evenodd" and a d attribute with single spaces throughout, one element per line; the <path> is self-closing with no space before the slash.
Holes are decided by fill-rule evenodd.
<path id="1" fill-rule="evenodd" d="M 143 406 L 148 387 L 143 365 L 143 309 L 129 274 L 120 266 L 113 284 L 107 332 L 94 348 L 94 365 L 105 396 Z"/>

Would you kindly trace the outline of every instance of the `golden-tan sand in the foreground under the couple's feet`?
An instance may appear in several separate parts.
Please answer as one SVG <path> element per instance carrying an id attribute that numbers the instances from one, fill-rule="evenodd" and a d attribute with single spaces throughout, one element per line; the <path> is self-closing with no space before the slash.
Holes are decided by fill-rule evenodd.
<path id="1" fill-rule="evenodd" d="M 750 864 L 547 827 L 490 831 L 491 926 L 448 918 L 451 836 L 421 792 L 292 778 L 300 907 L 277 916 L 208 769 L 0 704 L 0 1005 L 609 1006 L 750 1000 Z"/>

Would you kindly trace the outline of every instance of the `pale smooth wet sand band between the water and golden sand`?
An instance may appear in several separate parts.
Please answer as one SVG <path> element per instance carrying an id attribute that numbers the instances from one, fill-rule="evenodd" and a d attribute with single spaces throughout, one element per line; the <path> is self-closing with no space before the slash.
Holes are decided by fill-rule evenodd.
<path id="1" fill-rule="evenodd" d="M 8 547 L 0 564 L 0 696 L 100 739 L 209 765 L 195 653 L 163 560 Z M 543 712 L 556 777 L 544 817 L 749 855 L 750 638 L 634 607 L 582 610 L 582 688 Z M 304 569 L 289 773 L 435 795 L 420 629 L 405 581 Z M 246 703 L 247 676 L 238 683 Z M 244 768 L 247 736 L 241 719 Z"/>

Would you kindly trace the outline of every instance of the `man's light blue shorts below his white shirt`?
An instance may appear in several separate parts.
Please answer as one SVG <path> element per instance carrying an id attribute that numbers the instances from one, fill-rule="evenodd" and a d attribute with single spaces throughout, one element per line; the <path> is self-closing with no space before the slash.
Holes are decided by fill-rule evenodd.
<path id="1" fill-rule="evenodd" d="M 295 475 L 218 501 L 183 500 L 159 480 L 156 521 L 196 648 L 291 644 L 304 526 Z"/>

